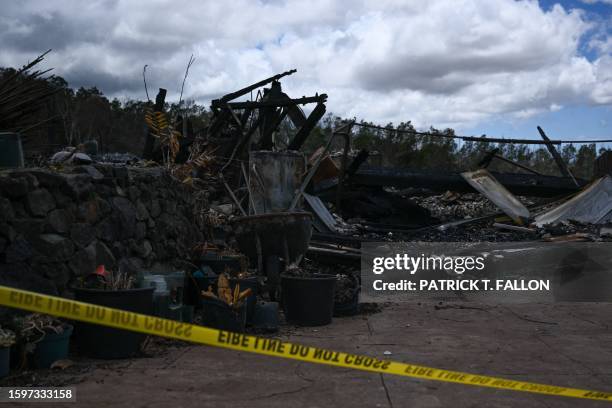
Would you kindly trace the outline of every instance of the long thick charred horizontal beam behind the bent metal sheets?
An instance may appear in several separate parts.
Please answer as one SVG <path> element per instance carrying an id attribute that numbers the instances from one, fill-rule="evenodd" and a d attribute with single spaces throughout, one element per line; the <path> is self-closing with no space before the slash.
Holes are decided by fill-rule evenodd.
<path id="1" fill-rule="evenodd" d="M 536 174 L 492 172 L 497 180 L 510 192 L 518 195 L 554 197 L 578 191 L 579 187 L 569 177 Z M 580 186 L 585 180 L 576 180 Z M 350 182 L 364 186 L 393 186 L 397 188 L 419 187 L 434 191 L 474 192 L 475 190 L 459 173 L 444 171 L 397 170 L 386 168 L 361 169 L 350 178 Z"/>

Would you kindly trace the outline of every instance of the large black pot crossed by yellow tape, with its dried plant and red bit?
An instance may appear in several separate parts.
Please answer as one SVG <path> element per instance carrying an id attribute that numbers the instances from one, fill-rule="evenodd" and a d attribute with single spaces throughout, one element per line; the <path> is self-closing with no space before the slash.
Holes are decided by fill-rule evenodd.
<path id="1" fill-rule="evenodd" d="M 155 288 L 135 286 L 135 279 L 128 273 L 106 270 L 100 265 L 94 273 L 82 278 L 73 290 L 75 299 L 81 302 L 152 314 Z M 79 350 L 103 359 L 138 355 L 146 339 L 142 333 L 83 322 L 76 323 L 76 332 Z"/>

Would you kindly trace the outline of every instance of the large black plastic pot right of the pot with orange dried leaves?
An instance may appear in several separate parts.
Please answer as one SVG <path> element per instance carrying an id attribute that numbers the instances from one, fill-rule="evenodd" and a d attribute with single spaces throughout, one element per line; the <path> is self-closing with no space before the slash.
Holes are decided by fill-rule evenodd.
<path id="1" fill-rule="evenodd" d="M 335 287 L 335 275 L 281 276 L 282 304 L 287 321 L 301 326 L 330 324 Z"/>

